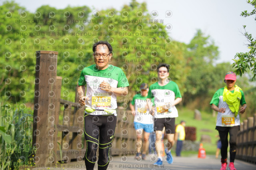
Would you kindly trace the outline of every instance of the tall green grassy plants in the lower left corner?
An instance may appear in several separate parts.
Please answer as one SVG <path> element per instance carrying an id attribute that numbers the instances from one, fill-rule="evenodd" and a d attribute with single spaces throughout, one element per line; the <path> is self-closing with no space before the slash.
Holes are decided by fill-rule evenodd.
<path id="1" fill-rule="evenodd" d="M 14 110 L 12 105 L 0 101 L 0 170 L 34 164 L 32 122 L 33 116 L 26 109 Z"/>

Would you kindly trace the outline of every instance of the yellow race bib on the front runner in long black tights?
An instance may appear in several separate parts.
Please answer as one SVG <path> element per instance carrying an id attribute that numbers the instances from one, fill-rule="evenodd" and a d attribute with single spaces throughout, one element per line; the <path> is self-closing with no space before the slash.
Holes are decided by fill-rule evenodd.
<path id="1" fill-rule="evenodd" d="M 111 96 L 108 93 L 99 93 L 97 96 L 92 96 L 92 109 L 109 109 L 111 106 Z"/>

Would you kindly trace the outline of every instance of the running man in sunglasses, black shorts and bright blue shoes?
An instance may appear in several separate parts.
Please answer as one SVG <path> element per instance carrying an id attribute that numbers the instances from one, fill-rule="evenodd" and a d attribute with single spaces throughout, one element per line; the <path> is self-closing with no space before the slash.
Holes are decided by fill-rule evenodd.
<path id="1" fill-rule="evenodd" d="M 169 79 L 169 65 L 160 64 L 157 67 L 158 82 L 149 87 L 147 104 L 150 113 L 154 115 L 154 130 L 156 131 L 156 152 L 158 155 L 157 162 L 154 165 L 162 165 L 162 130 L 165 127 L 165 133 L 168 139 L 168 146 L 165 152 L 167 162 L 172 164 L 173 158 L 171 148 L 174 146 L 175 117 L 178 117 L 178 111 L 175 107 L 182 101 L 180 89 L 174 81 Z M 151 100 L 154 98 L 155 107 L 152 107 Z"/>

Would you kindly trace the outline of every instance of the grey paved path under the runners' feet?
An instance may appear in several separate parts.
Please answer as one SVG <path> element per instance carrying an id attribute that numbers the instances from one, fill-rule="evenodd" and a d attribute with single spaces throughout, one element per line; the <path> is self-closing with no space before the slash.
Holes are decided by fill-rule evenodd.
<path id="1" fill-rule="evenodd" d="M 110 159 L 108 170 L 219 170 L 220 159 L 207 156 L 205 159 L 192 157 L 175 157 L 173 164 L 163 162 L 162 166 L 154 166 L 156 156 L 148 155 L 146 160 L 136 161 L 134 156 L 113 156 Z M 256 170 L 256 164 L 250 164 L 240 160 L 234 163 L 237 170 Z M 96 166 L 95 166 L 96 167 Z M 85 170 L 83 162 L 70 162 L 62 164 L 59 168 L 44 168 L 44 170 Z M 97 169 L 97 168 L 95 168 Z M 43 170 L 33 168 L 32 170 Z"/>

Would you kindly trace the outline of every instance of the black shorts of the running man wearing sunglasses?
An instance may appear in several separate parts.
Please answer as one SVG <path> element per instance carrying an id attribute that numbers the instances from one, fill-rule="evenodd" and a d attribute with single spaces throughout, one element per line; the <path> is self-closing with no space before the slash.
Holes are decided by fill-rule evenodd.
<path id="1" fill-rule="evenodd" d="M 154 130 L 163 130 L 165 127 L 166 134 L 175 133 L 175 117 L 174 118 L 154 118 Z"/>

